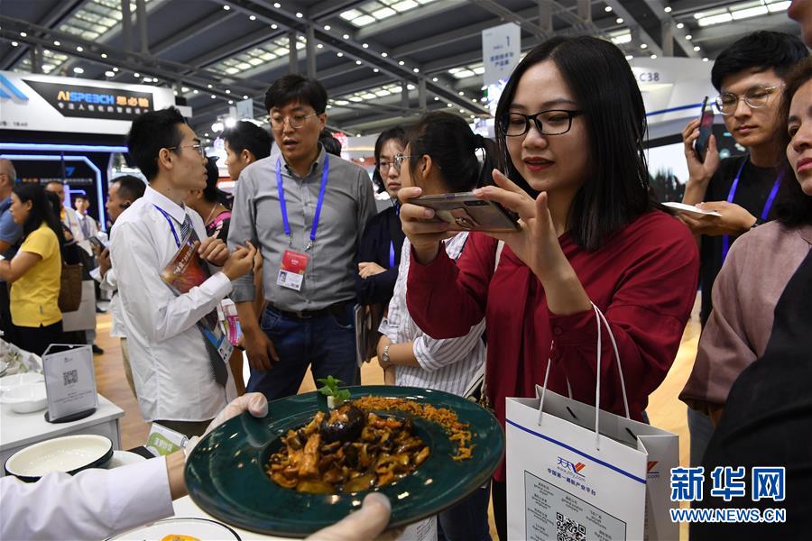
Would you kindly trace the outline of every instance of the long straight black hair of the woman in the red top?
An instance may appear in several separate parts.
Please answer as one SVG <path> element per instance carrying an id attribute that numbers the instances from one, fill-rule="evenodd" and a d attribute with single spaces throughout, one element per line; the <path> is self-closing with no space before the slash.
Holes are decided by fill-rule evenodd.
<path id="1" fill-rule="evenodd" d="M 583 151 L 591 173 L 573 200 L 567 230 L 578 246 L 592 252 L 638 216 L 663 208 L 651 191 L 643 151 L 646 110 L 629 63 L 609 41 L 556 37 L 531 50 L 513 70 L 499 98 L 496 141 L 505 174 L 532 197 L 539 192 L 513 165 L 504 126 L 519 79 L 545 60 L 555 62 L 578 109 L 584 112 L 587 138 Z"/>

